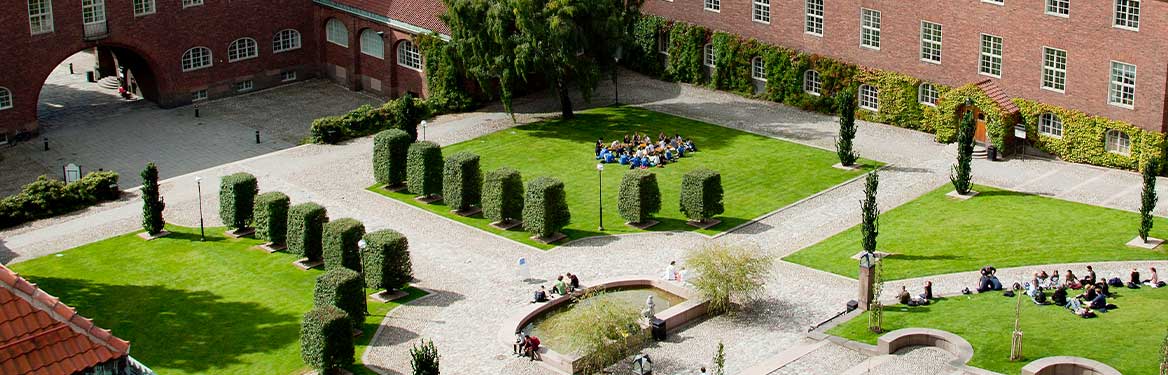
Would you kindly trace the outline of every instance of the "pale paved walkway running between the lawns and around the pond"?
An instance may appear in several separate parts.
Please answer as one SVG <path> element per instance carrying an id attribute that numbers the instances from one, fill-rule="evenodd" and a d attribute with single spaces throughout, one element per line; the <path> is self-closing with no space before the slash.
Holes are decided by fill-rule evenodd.
<path id="1" fill-rule="evenodd" d="M 756 133 L 830 147 L 837 127 L 829 116 L 802 112 L 784 105 L 745 99 L 653 81 L 626 74 L 621 99 L 627 103 L 707 120 Z M 610 86 L 597 91 L 595 103 L 611 99 Z M 577 102 L 578 103 L 578 102 Z M 520 123 L 555 114 L 555 98 L 533 96 L 517 103 Z M 551 111 L 552 113 L 547 113 Z M 449 145 L 514 126 L 509 117 L 488 109 L 434 119 L 427 138 Z M 317 201 L 329 216 L 355 217 L 368 230 L 392 228 L 410 238 L 418 286 L 434 296 L 395 310 L 374 339 L 367 363 L 385 374 L 406 373 L 409 346 L 418 338 L 434 340 L 443 354 L 443 369 L 451 374 L 548 374 L 533 363 L 510 357 L 495 334 L 506 317 L 524 307 L 533 284 L 520 282 L 512 264 L 519 257 L 531 262 L 531 275 L 550 278 L 571 271 L 585 282 L 618 276 L 653 276 L 669 259 L 709 241 L 752 243 L 783 256 L 830 237 L 858 222 L 862 182 L 841 186 L 718 239 L 695 234 L 647 234 L 598 237 L 552 251 L 538 251 L 467 228 L 436 215 L 419 214 L 410 206 L 363 190 L 370 178 L 370 139 L 340 146 L 308 145 L 199 172 L 208 224 L 217 224 L 218 176 L 250 172 L 262 190 L 281 190 L 293 201 Z M 903 129 L 861 123 L 857 148 L 862 155 L 890 162 L 882 172 L 881 207 L 891 209 L 947 183 L 952 146 L 938 145 L 931 136 Z M 1100 171 L 1057 161 L 975 161 L 975 182 L 1043 193 L 1093 204 L 1127 208 L 1138 201 L 1138 175 Z M 1072 181 L 1076 183 L 1059 183 Z M 1087 194 L 1096 183 L 1114 193 Z M 1078 186 L 1078 187 L 1076 187 Z M 1164 186 L 1164 183 L 1161 183 Z M 166 181 L 168 220 L 197 224 L 197 195 L 192 175 Z M 0 257 L 13 262 L 43 256 L 71 246 L 135 230 L 140 208 L 134 199 L 113 202 L 64 218 L 0 231 Z M 654 243 L 646 248 L 644 243 Z M 5 254 L 7 252 L 7 256 Z M 961 279 L 965 276 L 952 276 Z M 891 286 L 891 285 L 890 285 Z M 710 318 L 670 335 L 645 352 L 662 374 L 693 373 L 709 362 L 718 341 L 730 353 L 728 373 L 808 343 L 804 332 L 841 311 L 855 298 L 851 279 L 777 262 L 767 290 L 758 304 L 735 315 Z M 744 339 L 749 338 L 749 339 Z M 827 364 L 832 360 L 821 361 Z"/>

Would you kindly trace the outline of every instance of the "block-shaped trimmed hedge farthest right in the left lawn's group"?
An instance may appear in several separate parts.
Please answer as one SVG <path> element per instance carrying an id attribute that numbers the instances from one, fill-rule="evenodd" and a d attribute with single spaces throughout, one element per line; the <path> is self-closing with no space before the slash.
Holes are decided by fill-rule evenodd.
<path id="1" fill-rule="evenodd" d="M 364 235 L 366 248 L 361 255 L 366 286 L 395 291 L 413 280 L 410 243 L 401 232 L 384 229 Z"/>

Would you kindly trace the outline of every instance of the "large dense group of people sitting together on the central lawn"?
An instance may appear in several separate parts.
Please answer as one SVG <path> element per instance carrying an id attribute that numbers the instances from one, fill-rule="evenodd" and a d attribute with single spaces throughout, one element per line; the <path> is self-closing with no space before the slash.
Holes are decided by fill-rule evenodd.
<path id="1" fill-rule="evenodd" d="M 667 164 L 677 161 L 686 157 L 688 152 L 696 152 L 694 140 L 682 138 L 680 134 L 673 137 L 663 132 L 658 133 L 656 141 L 648 134 L 625 134 L 625 138 L 605 144 L 604 139 L 596 140 L 596 160 L 611 164 L 617 162 L 623 166 L 634 168 L 663 168 Z"/>

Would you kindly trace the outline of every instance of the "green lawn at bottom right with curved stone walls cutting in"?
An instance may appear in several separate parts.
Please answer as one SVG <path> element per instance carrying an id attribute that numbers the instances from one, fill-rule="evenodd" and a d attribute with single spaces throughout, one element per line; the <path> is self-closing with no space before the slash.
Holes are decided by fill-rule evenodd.
<path id="1" fill-rule="evenodd" d="M 1014 331 L 1014 299 L 1000 292 L 955 296 L 929 306 L 884 308 L 884 329 L 922 327 L 952 332 L 973 345 L 969 366 L 1018 374 L 1030 361 L 1055 355 L 1097 360 L 1128 375 L 1156 374 L 1160 347 L 1168 329 L 1163 308 L 1168 289 L 1112 289 L 1119 306 L 1098 318 L 1083 319 L 1059 306 L 1038 306 L 1022 301 L 1023 354 L 1026 360 L 1010 362 L 1010 334 Z M 1073 296 L 1073 294 L 1072 294 Z M 868 332 L 868 315 L 861 314 L 828 331 L 829 334 L 876 343 Z"/>

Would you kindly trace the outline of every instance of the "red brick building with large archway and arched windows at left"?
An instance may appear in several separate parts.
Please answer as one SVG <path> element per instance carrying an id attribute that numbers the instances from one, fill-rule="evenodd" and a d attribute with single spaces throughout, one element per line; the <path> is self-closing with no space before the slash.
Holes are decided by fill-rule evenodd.
<path id="1" fill-rule="evenodd" d="M 49 72 L 95 50 L 162 107 L 326 76 L 385 97 L 425 93 L 409 42 L 447 34 L 430 0 L 0 0 L 0 141 L 35 131 Z M 76 67 L 78 71 L 89 67 Z"/>

